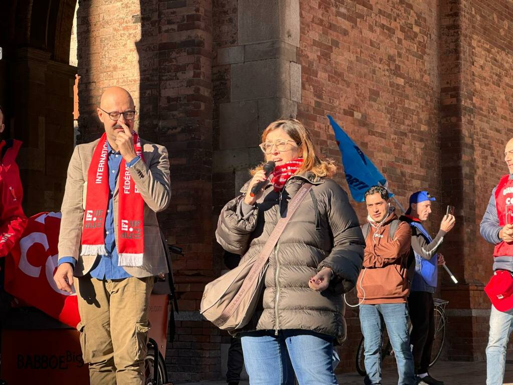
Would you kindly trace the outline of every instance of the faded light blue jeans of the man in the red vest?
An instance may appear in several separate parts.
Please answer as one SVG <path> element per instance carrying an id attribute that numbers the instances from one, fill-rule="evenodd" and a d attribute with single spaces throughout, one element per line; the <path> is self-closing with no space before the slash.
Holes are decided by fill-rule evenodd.
<path id="1" fill-rule="evenodd" d="M 513 330 L 513 309 L 499 312 L 491 306 L 490 336 L 486 347 L 486 385 L 502 385 L 506 348 Z"/>

